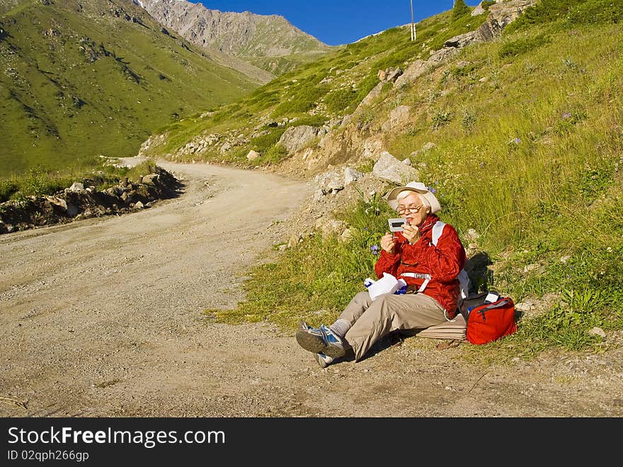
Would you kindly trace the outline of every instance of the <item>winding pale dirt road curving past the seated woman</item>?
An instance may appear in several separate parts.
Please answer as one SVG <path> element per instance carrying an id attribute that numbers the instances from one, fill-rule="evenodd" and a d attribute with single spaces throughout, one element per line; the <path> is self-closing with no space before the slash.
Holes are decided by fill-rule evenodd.
<path id="1" fill-rule="evenodd" d="M 623 415 L 622 351 L 484 368 L 413 337 L 323 370 L 291 332 L 203 320 L 242 298 L 312 187 L 161 165 L 179 198 L 0 237 L 0 416 Z"/>

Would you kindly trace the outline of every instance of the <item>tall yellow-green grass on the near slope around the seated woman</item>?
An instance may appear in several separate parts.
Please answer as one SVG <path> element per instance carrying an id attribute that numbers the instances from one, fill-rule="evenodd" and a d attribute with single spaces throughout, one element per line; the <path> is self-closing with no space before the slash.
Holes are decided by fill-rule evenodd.
<path id="1" fill-rule="evenodd" d="M 469 47 L 455 59 L 468 65 L 431 70 L 367 116 L 378 123 L 396 105 L 420 109 L 388 149 L 404 159 L 437 145 L 418 155 L 421 181 L 435 187 L 442 220 L 459 235 L 479 233 L 476 247 L 494 266 L 480 290 L 516 303 L 553 294 L 515 334 L 473 346 L 481 358 L 603 351 L 608 342 L 590 330 L 623 329 L 623 33 L 614 9 L 595 16 L 602 2 L 580 3 L 571 19 L 541 11 L 502 40 Z M 353 240 L 314 235 L 287 249 L 252 271 L 248 301 L 217 317 L 290 330 L 299 319 L 335 319 L 374 274 L 370 247 L 391 217 L 379 199 L 350 211 Z"/>

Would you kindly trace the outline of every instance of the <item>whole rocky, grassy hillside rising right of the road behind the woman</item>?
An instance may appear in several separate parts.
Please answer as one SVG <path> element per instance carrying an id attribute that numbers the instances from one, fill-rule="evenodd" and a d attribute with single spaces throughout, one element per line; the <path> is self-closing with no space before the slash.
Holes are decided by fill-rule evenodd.
<path id="1" fill-rule="evenodd" d="M 331 322 L 372 270 L 393 217 L 382 196 L 417 179 L 480 261 L 475 290 L 508 293 L 522 310 L 547 298 L 506 354 L 610 345 L 604 336 L 623 327 L 623 1 L 452 13 L 419 23 L 413 44 L 408 28 L 387 30 L 144 143 L 143 155 L 316 186 L 292 248 L 253 271 L 249 303 L 219 316 Z"/>

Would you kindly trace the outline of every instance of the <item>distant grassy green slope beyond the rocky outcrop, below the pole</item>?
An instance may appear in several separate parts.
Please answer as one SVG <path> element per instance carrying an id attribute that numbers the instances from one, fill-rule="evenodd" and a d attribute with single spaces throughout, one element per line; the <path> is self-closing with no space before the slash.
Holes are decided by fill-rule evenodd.
<path id="1" fill-rule="evenodd" d="M 248 166 L 246 154 L 256 150 L 261 157 L 251 162 L 262 165 L 278 162 L 285 154 L 275 143 L 290 125 L 322 125 L 352 113 L 360 101 L 379 82 L 379 69 L 407 67 L 413 60 L 425 60 L 445 40 L 478 28 L 486 14 L 453 18 L 452 11 L 418 23 L 418 40 L 411 41 L 407 28 L 384 33 L 338 47 L 315 62 L 282 74 L 243 99 L 218 108 L 210 116 L 196 115 L 163 129 L 161 145 L 152 145 L 150 155 L 176 154 L 178 159 L 203 159 Z M 287 121 L 285 126 L 275 122 Z M 257 131 L 263 135 L 253 137 Z M 222 154 L 210 147 L 200 154 L 183 154 L 186 143 L 207 133 L 244 135 L 248 143 Z"/>

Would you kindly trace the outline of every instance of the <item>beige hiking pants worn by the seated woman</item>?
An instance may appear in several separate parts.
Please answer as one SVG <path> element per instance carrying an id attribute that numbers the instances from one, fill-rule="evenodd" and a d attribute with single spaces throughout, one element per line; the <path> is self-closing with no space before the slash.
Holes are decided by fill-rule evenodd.
<path id="1" fill-rule="evenodd" d="M 425 329 L 446 320 L 437 300 L 423 293 L 386 293 L 372 301 L 367 291 L 355 295 L 338 319 L 350 322 L 345 339 L 355 361 L 389 332 Z"/>

